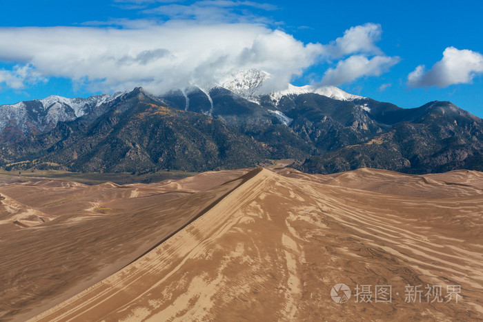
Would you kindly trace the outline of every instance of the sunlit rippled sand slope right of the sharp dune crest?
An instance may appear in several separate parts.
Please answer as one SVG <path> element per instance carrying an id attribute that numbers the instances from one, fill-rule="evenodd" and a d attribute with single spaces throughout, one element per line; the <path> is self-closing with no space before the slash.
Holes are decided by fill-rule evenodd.
<path id="1" fill-rule="evenodd" d="M 330 181 L 258 169 L 226 183 L 231 188 L 172 237 L 33 320 L 481 319 L 477 187 L 452 194 L 462 185 L 427 181 L 433 188 L 424 198 L 424 189 L 414 197 L 407 189 L 383 194 L 379 183 L 357 190 Z M 346 303 L 331 298 L 337 283 L 353 291 Z M 357 285 L 371 285 L 371 301 L 356 301 Z M 375 285 L 391 285 L 390 303 L 376 303 Z M 447 287 L 461 290 L 457 302 L 455 293 L 406 298 L 408 286 L 419 285 L 439 285 L 442 296 Z"/>

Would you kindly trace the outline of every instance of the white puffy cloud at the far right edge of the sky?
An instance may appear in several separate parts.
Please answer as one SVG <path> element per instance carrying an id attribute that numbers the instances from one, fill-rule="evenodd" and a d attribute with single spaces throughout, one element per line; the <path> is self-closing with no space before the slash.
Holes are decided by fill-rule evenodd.
<path id="1" fill-rule="evenodd" d="M 408 74 L 411 87 L 437 86 L 440 88 L 453 84 L 471 83 L 477 74 L 483 74 L 483 55 L 472 50 L 458 50 L 448 47 L 443 58 L 426 71 L 424 65 L 417 66 Z"/>

